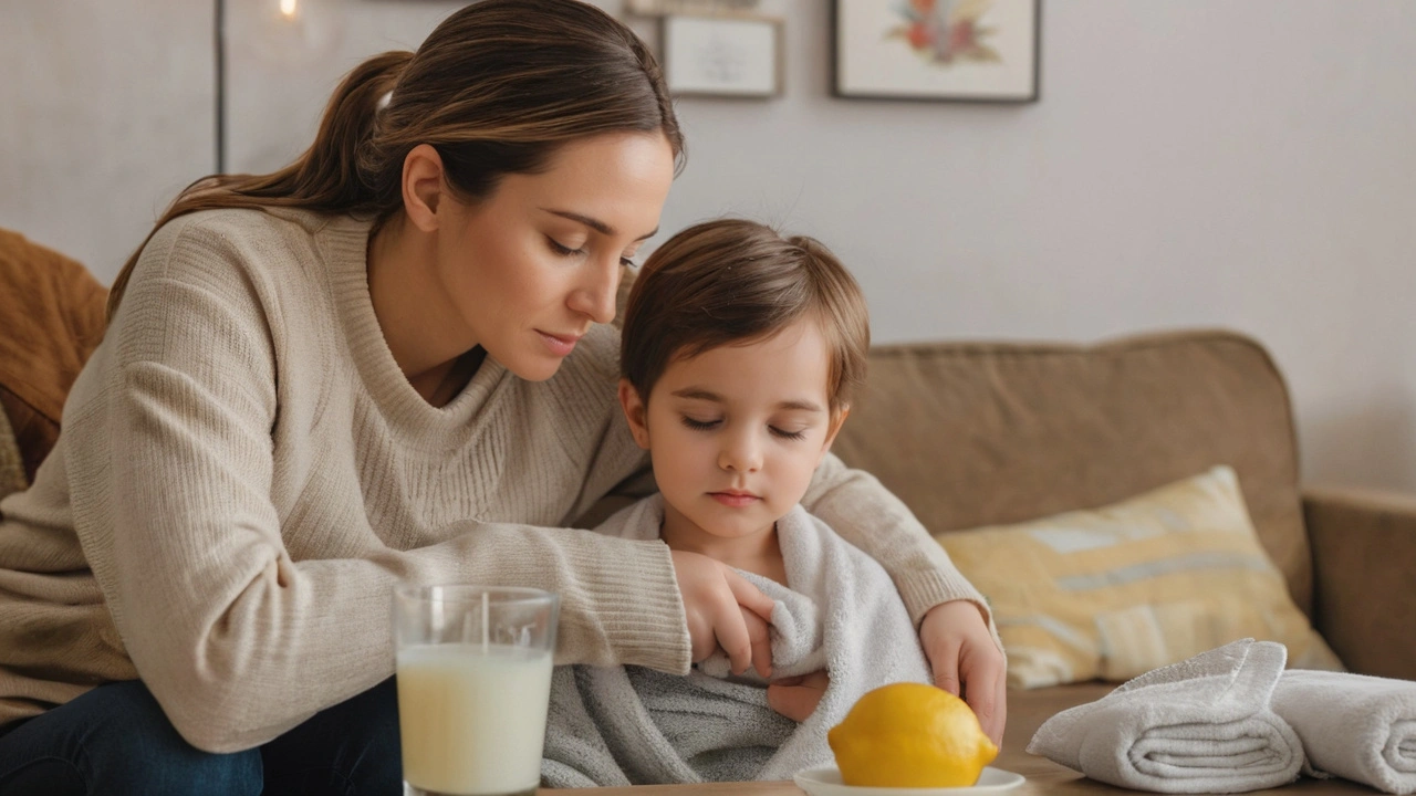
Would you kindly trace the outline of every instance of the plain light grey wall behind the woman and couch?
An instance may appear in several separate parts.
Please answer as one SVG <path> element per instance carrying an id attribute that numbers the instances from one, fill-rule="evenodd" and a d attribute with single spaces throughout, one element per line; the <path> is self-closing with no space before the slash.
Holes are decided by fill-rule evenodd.
<path id="1" fill-rule="evenodd" d="M 302 3 L 295 31 L 231 1 L 232 169 L 297 153 L 343 71 L 457 7 Z M 0 0 L 0 225 L 112 278 L 210 169 L 211 16 L 55 6 Z M 1054 1 L 1027 106 L 831 99 L 827 3 L 763 8 L 789 18 L 786 95 L 678 102 L 666 231 L 736 212 L 823 238 L 881 341 L 1246 331 L 1289 378 L 1307 480 L 1416 491 L 1416 3 Z"/>

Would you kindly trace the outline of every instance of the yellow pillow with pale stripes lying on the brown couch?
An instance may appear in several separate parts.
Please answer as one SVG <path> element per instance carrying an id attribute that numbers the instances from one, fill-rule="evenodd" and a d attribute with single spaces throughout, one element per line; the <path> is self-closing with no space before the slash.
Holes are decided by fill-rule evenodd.
<path id="1" fill-rule="evenodd" d="M 987 596 L 1022 688 L 1129 680 L 1236 639 L 1341 669 L 1289 596 L 1228 466 L 1090 511 L 935 537 Z"/>

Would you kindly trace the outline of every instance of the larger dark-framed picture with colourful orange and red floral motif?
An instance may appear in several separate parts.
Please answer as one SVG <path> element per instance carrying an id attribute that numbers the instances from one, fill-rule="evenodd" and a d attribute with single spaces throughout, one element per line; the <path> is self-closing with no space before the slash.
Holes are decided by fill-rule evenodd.
<path id="1" fill-rule="evenodd" d="M 833 93 L 1037 102 L 1042 0 L 834 0 Z"/>

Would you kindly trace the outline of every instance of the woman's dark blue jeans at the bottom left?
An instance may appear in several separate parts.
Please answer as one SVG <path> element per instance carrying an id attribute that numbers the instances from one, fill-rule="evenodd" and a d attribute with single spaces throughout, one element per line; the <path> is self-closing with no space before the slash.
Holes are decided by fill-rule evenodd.
<path id="1" fill-rule="evenodd" d="M 137 680 L 0 731 L 4 796 L 399 796 L 404 788 L 392 678 L 231 755 L 187 744 Z"/>

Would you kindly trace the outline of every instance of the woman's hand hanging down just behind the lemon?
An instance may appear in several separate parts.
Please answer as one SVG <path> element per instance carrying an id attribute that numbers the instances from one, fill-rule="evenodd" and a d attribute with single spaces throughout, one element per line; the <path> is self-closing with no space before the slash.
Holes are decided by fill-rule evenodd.
<path id="1" fill-rule="evenodd" d="M 984 734 L 1001 744 L 1008 718 L 1007 663 L 978 606 L 959 599 L 929 609 L 919 625 L 919 643 L 935 684 L 963 697 Z"/>

